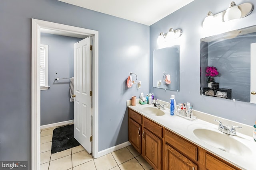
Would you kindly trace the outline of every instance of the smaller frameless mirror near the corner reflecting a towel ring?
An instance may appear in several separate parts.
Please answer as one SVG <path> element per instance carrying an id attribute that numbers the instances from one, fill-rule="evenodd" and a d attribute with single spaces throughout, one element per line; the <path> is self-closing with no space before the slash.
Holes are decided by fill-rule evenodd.
<path id="1" fill-rule="evenodd" d="M 153 87 L 180 90 L 180 46 L 153 51 Z"/>

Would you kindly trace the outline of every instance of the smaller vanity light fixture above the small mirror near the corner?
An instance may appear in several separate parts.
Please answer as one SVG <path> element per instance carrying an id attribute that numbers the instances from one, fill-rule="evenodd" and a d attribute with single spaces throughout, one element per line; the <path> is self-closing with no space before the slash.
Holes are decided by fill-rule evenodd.
<path id="1" fill-rule="evenodd" d="M 171 41 L 173 39 L 176 39 L 182 35 L 182 30 L 181 29 L 176 29 L 174 30 L 173 28 L 169 29 L 169 32 L 164 34 L 163 32 L 160 33 L 160 35 L 157 38 L 157 43 L 161 44 L 167 41 Z"/>

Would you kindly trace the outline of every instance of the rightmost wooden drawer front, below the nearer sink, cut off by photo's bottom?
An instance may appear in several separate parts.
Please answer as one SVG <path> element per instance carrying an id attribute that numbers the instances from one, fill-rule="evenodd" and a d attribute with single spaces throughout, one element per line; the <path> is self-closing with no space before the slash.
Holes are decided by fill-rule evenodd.
<path id="1" fill-rule="evenodd" d="M 208 170 L 236 170 L 208 153 L 205 154 L 205 167 Z"/>

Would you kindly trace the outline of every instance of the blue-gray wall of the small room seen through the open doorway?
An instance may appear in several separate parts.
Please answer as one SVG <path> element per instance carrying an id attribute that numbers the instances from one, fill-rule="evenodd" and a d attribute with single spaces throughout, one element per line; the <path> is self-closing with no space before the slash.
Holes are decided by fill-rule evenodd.
<path id="1" fill-rule="evenodd" d="M 41 33 L 41 44 L 48 45 L 48 90 L 41 90 L 41 125 L 74 119 L 70 102 L 70 80 L 74 76 L 74 43 L 80 38 Z"/>

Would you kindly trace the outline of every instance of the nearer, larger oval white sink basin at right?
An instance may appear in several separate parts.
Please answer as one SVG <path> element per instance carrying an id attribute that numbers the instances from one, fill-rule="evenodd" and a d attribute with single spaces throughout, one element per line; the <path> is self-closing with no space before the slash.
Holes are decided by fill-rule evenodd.
<path id="1" fill-rule="evenodd" d="M 230 135 L 210 129 L 194 129 L 193 133 L 204 143 L 224 152 L 247 156 L 252 154 L 252 151 L 246 145 L 234 139 L 236 138 L 234 136 L 231 137 Z"/>

